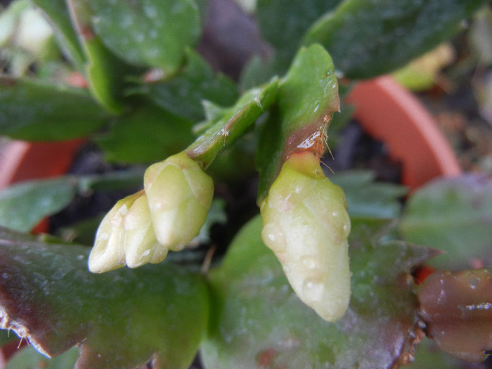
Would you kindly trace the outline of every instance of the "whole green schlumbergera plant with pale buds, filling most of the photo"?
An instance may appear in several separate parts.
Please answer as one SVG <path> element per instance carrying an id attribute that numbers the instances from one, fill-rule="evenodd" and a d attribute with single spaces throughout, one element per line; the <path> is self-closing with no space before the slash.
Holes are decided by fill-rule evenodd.
<path id="1" fill-rule="evenodd" d="M 491 181 L 437 181 L 403 212 L 405 188 L 321 160 L 349 110 L 339 94 L 486 1 L 238 3 L 17 0 L 0 14 L 0 133 L 84 138 L 120 165 L 0 193 L 0 343 L 13 330 L 30 345 L 6 368 L 188 368 L 198 352 L 204 368 L 484 361 Z M 248 221 L 227 211 L 244 183 Z M 77 195 L 122 188 L 102 220 L 70 228 L 79 238 L 30 234 Z M 417 285 L 423 263 L 439 270 Z"/>

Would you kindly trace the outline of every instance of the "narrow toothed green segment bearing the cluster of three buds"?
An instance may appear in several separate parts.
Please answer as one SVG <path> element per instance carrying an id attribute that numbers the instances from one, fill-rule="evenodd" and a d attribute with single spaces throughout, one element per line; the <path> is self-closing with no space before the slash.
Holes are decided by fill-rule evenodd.
<path id="1" fill-rule="evenodd" d="M 205 122 L 209 128 L 187 149 L 189 157 L 207 168 L 216 155 L 234 143 L 268 109 L 277 95 L 278 79 L 246 91 L 233 107 L 217 110 L 217 117 Z"/>

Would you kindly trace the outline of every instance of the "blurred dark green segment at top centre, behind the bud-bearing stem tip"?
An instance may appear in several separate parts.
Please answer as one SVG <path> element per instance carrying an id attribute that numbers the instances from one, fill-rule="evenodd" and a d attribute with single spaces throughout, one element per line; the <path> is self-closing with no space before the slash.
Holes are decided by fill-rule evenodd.
<path id="1" fill-rule="evenodd" d="M 304 33 L 321 14 L 341 0 L 259 0 L 257 19 L 261 34 L 276 48 L 277 63 L 288 67 Z"/>

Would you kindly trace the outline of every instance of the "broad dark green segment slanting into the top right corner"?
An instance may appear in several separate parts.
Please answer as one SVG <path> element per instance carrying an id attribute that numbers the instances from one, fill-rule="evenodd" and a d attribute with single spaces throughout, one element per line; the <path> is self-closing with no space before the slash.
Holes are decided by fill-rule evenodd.
<path id="1" fill-rule="evenodd" d="M 347 0 L 318 20 L 304 44 L 322 44 L 345 77 L 370 78 L 402 67 L 462 29 L 485 0 Z"/>

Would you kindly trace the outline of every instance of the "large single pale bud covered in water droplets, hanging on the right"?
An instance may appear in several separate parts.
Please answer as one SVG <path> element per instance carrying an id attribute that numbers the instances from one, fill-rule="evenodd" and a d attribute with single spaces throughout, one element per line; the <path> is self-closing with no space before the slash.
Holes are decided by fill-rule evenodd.
<path id="1" fill-rule="evenodd" d="M 294 153 L 283 164 L 261 216 L 261 237 L 299 298 L 326 321 L 341 318 L 351 293 L 347 200 L 313 153 Z"/>

